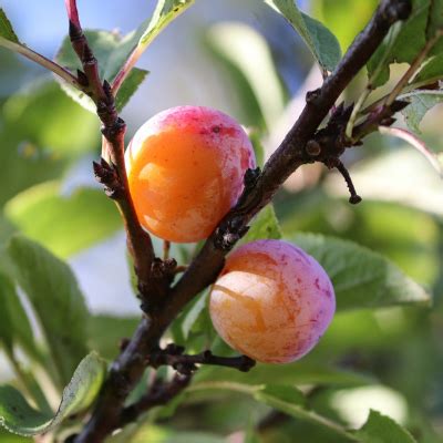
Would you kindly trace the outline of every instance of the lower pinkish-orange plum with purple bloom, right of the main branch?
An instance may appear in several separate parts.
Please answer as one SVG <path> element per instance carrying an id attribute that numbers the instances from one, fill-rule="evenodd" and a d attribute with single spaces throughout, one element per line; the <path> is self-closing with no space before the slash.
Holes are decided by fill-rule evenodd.
<path id="1" fill-rule="evenodd" d="M 265 363 L 307 354 L 332 320 L 336 296 L 320 264 L 281 240 L 237 248 L 214 284 L 209 313 L 234 349 Z"/>

